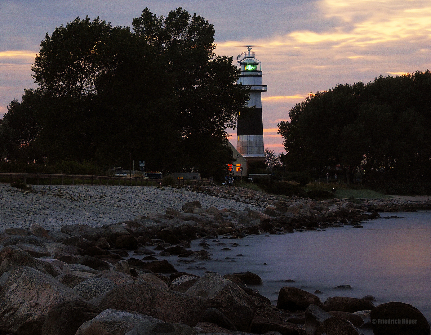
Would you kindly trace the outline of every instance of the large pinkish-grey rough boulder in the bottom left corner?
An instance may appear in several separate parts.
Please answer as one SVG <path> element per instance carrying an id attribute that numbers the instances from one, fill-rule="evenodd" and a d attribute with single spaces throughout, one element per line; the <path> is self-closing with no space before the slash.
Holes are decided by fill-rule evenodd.
<path id="1" fill-rule="evenodd" d="M 81 300 L 56 279 L 28 266 L 12 270 L 0 291 L 0 328 L 18 335 L 40 335 L 48 311 Z"/>

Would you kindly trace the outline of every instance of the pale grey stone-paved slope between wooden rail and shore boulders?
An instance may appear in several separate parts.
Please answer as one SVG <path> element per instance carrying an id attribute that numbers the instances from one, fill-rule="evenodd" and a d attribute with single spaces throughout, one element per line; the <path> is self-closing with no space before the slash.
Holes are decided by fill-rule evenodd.
<path id="1" fill-rule="evenodd" d="M 94 227 L 133 219 L 137 214 L 165 213 L 167 207 L 181 210 L 184 203 L 199 200 L 203 208 L 257 208 L 233 200 L 175 188 L 90 185 L 32 185 L 23 191 L 0 184 L 0 232 L 5 228 L 29 228 L 33 223 L 45 229 L 66 224 Z"/>

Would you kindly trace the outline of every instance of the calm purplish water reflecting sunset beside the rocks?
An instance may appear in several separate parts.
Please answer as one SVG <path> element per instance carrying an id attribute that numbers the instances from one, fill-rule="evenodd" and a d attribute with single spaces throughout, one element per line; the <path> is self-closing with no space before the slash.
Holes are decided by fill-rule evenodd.
<path id="1" fill-rule="evenodd" d="M 206 240 L 215 260 L 184 264 L 177 263 L 178 257 L 166 258 L 178 271 L 197 275 L 206 270 L 222 275 L 257 273 L 263 280 L 263 286 L 257 287 L 259 292 L 273 302 L 283 286 L 312 293 L 320 290 L 324 292 L 318 294 L 322 301 L 371 294 L 378 299 L 376 305 L 401 301 L 431 320 L 431 212 L 395 214 L 406 219 L 371 220 L 363 229 L 346 226 L 324 232 L 219 238 L 225 246 Z M 191 249 L 200 250 L 200 242 L 193 241 Z M 240 246 L 232 247 L 234 243 Z M 232 250 L 222 251 L 224 247 Z M 286 279 L 296 283 L 286 283 Z M 351 285 L 352 289 L 334 289 L 338 285 Z"/>

